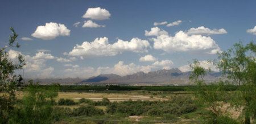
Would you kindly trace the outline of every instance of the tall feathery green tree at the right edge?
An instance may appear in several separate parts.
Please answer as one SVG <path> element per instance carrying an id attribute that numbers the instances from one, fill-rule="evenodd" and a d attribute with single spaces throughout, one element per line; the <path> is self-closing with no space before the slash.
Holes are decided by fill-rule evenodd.
<path id="1" fill-rule="evenodd" d="M 217 55 L 216 65 L 222 75 L 239 85 L 238 98 L 234 104 L 244 107 L 245 123 L 250 123 L 250 118 L 256 118 L 256 46 L 254 42 L 246 46 L 240 42 Z"/>

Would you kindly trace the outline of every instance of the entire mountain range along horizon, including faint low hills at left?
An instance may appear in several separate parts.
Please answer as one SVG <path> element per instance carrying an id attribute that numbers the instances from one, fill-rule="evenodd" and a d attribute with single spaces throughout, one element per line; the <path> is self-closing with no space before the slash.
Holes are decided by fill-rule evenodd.
<path id="1" fill-rule="evenodd" d="M 119 76 L 115 74 L 98 75 L 82 80 L 81 78 L 37 78 L 34 82 L 61 83 L 61 84 L 128 84 L 128 85 L 187 85 L 191 72 L 181 72 L 177 68 L 160 69 L 148 73 L 137 72 L 131 75 Z M 221 77 L 220 72 L 207 72 L 204 79 L 208 82 L 216 81 Z M 28 81 L 28 79 L 26 79 Z"/>

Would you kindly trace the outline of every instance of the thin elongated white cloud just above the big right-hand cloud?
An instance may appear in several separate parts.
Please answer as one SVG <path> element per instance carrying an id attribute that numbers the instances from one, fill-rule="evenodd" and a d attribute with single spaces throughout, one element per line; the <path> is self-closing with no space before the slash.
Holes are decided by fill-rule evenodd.
<path id="1" fill-rule="evenodd" d="M 204 26 L 200 26 L 197 28 L 190 28 L 187 32 L 189 35 L 215 35 L 215 34 L 226 34 L 226 30 L 224 28 L 213 29 L 205 28 Z"/>

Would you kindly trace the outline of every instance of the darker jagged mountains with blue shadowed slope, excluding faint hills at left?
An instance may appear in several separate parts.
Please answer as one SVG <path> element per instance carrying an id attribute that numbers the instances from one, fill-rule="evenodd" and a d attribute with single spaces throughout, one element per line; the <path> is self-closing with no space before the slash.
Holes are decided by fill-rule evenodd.
<path id="1" fill-rule="evenodd" d="M 188 84 L 191 72 L 181 72 L 177 68 L 160 69 L 148 73 L 137 72 L 132 75 L 119 76 L 114 74 L 99 75 L 90 77 L 81 82 L 107 83 L 107 84 L 166 84 L 166 85 L 186 85 Z M 220 72 L 208 72 L 205 76 L 207 81 L 215 81 L 220 77 Z"/>

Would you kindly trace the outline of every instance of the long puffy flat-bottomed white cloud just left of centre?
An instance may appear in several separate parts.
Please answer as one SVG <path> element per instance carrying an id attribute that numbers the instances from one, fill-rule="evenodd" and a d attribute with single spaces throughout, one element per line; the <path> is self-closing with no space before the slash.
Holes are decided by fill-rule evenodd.
<path id="1" fill-rule="evenodd" d="M 84 57 L 115 56 L 125 51 L 147 52 L 147 47 L 150 47 L 150 43 L 139 38 L 133 38 L 130 42 L 118 39 L 116 43 L 109 44 L 108 38 L 104 37 L 96 38 L 93 42 L 77 44 L 68 55 Z"/>

